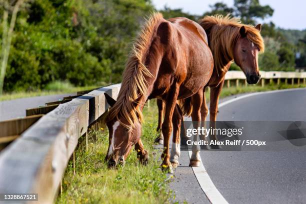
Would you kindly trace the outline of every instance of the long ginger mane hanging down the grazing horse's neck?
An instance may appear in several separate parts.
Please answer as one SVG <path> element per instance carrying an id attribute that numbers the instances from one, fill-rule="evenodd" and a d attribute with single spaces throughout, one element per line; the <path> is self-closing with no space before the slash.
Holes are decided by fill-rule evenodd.
<path id="1" fill-rule="evenodd" d="M 136 37 L 123 71 L 117 101 L 109 110 L 108 120 L 118 119 L 119 116 L 122 116 L 128 124 L 121 121 L 120 123 L 128 128 L 133 127 L 134 121 L 142 121 L 142 113 L 139 105 L 135 105 L 137 102 L 135 100 L 147 93 L 145 77 L 152 77 L 144 63 L 152 35 L 160 19 L 162 19 L 162 14 L 159 12 L 150 15 Z"/>

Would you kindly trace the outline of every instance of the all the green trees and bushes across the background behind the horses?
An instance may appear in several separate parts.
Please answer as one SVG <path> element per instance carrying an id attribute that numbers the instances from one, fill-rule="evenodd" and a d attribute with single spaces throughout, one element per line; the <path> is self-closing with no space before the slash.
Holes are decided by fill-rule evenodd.
<path id="1" fill-rule="evenodd" d="M 18 2 L 0 0 L 1 64 L 10 44 L 4 91 L 43 89 L 55 80 L 77 86 L 119 82 L 131 42 L 144 16 L 155 10 L 150 0 L 24 0 L 9 35 Z M 204 15 L 230 13 L 251 24 L 273 14 L 258 0 L 234 0 L 233 7 L 218 2 L 200 16 L 169 7 L 160 11 L 165 18 L 185 16 L 195 21 Z M 279 29 L 269 22 L 263 24 L 262 35 L 266 46 L 259 56 L 262 70 L 306 66 L 306 30 Z M 234 64 L 231 68 L 237 69 Z"/>

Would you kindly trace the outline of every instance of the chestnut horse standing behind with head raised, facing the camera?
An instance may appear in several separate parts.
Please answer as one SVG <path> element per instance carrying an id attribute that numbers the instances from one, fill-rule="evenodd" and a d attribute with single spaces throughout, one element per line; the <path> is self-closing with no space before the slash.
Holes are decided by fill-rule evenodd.
<path id="1" fill-rule="evenodd" d="M 244 72 L 247 83 L 257 83 L 260 78 L 257 63 L 258 53 L 263 52 L 264 44 L 260 35 L 260 24 L 257 24 L 255 27 L 241 24 L 238 18 L 230 18 L 228 15 L 205 16 L 199 21 L 199 24 L 207 34 L 208 45 L 214 60 L 213 72 L 206 84 L 206 86 L 210 87 L 210 126 L 214 127 L 219 95 L 224 83 L 225 73 L 228 71 L 230 64 L 233 60 L 235 61 Z M 205 91 L 205 87 L 203 91 Z M 183 115 L 189 115 L 192 107 L 190 100 L 180 100 L 179 103 L 182 104 L 181 109 L 183 110 Z M 156 130 L 158 131 L 161 127 L 162 112 L 164 111 L 163 102 L 157 99 L 157 106 L 158 126 Z M 208 108 L 205 97 L 203 97 L 201 106 L 202 122 L 205 121 L 207 114 Z M 215 135 L 212 136 L 216 139 Z M 174 140 L 177 139 L 173 138 Z M 161 132 L 155 141 L 159 143 L 163 142 Z M 211 147 L 217 148 L 217 146 Z"/>

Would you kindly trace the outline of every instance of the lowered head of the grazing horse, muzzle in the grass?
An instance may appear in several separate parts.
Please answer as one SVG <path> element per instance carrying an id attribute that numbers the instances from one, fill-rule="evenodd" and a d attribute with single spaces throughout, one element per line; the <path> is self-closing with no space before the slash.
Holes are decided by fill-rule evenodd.
<path id="1" fill-rule="evenodd" d="M 105 93 L 105 98 L 110 106 L 115 104 L 115 100 Z M 135 103 L 135 105 L 138 105 Z M 135 121 L 133 127 L 128 125 L 127 120 L 118 115 L 113 119 L 107 120 L 106 125 L 109 131 L 109 145 L 105 160 L 109 167 L 118 163 L 124 164 L 132 145 L 138 142 L 141 135 L 141 125 Z"/>

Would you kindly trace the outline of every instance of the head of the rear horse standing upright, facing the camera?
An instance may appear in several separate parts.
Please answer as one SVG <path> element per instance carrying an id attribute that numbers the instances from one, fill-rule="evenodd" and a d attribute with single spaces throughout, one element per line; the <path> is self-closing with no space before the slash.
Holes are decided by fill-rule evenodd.
<path id="1" fill-rule="evenodd" d="M 257 24 L 255 28 L 260 31 L 261 24 Z M 234 46 L 234 61 L 240 66 L 246 76 L 249 84 L 257 83 L 260 79 L 258 69 L 258 46 L 251 42 L 247 37 L 247 30 L 244 26 L 239 29 L 239 37 Z"/>

